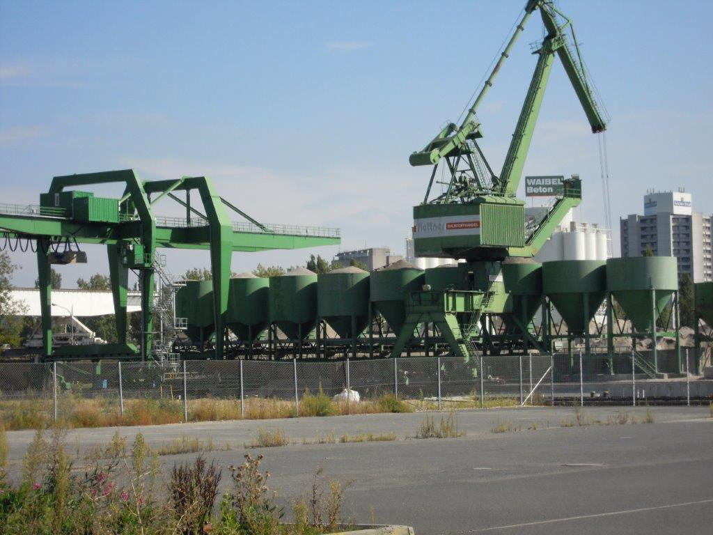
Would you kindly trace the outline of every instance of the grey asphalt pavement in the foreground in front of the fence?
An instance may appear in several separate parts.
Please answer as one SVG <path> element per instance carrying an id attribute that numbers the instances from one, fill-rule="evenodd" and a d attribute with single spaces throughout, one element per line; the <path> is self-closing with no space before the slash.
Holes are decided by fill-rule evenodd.
<path id="1" fill-rule="evenodd" d="M 272 489 L 282 503 L 304 494 L 312 474 L 348 484 L 345 509 L 356 522 L 407 524 L 417 535 L 476 533 L 709 533 L 713 525 L 713 418 L 708 407 L 586 407 L 590 425 L 570 427 L 570 408 L 458 412 L 456 439 L 414 439 L 426 414 L 368 414 L 270 421 L 211 422 L 118 429 L 141 432 L 153 446 L 180 437 L 211 439 L 229 451 L 207 454 L 220 466 L 265 454 Z M 620 413 L 637 424 L 607 424 Z M 441 416 L 431 413 L 436 422 Z M 596 422 L 599 423 L 596 423 Z M 497 427 L 520 429 L 494 433 Z M 282 429 L 292 444 L 246 450 L 259 427 Z M 85 450 L 116 429 L 68 433 Z M 388 434 L 393 442 L 303 444 L 334 433 Z M 10 475 L 16 477 L 33 432 L 9 433 Z M 226 446 L 226 444 L 228 446 Z M 163 456 L 166 469 L 195 454 Z M 225 473 L 222 488 L 230 484 Z"/>

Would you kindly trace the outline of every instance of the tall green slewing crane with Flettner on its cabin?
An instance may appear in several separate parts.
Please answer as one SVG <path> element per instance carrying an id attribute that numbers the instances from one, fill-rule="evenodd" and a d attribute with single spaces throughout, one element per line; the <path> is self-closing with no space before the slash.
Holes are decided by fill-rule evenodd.
<path id="1" fill-rule="evenodd" d="M 411 154 L 411 165 L 431 165 L 431 179 L 423 203 L 414 207 L 414 249 L 417 256 L 464 259 L 464 288 L 453 292 L 416 292 L 406 302 L 407 325 L 393 355 L 403 350 L 414 328 L 432 322 L 456 355 L 473 355 L 471 332 L 483 312 L 505 310 L 507 297 L 501 263 L 510 257 L 532 257 L 550 238 L 570 208 L 581 200 L 578 177 L 565 180 L 564 193 L 546 217 L 526 232 L 525 203 L 515 194 L 523 173 L 535 123 L 555 56 L 560 58 L 584 108 L 593 133 L 605 131 L 607 121 L 597 105 L 580 54 L 573 22 L 552 0 L 530 0 L 505 49 L 460 125 L 448 123 L 421 151 Z M 540 12 L 545 37 L 533 46 L 538 57 L 523 108 L 500 175 L 493 172 L 478 139 L 483 136 L 478 106 L 493 86 L 530 16 Z M 443 193 L 431 198 L 439 166 Z M 471 314 L 471 319 L 463 316 Z"/>

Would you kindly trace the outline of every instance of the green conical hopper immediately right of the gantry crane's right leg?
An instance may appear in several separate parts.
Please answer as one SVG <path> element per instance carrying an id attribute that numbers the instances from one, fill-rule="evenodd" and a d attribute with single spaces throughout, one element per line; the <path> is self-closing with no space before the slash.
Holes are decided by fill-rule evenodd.
<path id="1" fill-rule="evenodd" d="M 252 342 L 270 322 L 270 280 L 240 273 L 230 279 L 225 323 L 240 340 Z"/>

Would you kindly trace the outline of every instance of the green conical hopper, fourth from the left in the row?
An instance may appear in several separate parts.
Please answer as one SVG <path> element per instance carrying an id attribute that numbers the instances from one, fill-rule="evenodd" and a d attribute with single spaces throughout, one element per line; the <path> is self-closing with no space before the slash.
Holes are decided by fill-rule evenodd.
<path id="1" fill-rule="evenodd" d="M 369 272 L 344 267 L 317 275 L 317 312 L 342 338 L 359 336 L 369 322 Z M 352 318 L 356 330 L 352 332 Z"/>

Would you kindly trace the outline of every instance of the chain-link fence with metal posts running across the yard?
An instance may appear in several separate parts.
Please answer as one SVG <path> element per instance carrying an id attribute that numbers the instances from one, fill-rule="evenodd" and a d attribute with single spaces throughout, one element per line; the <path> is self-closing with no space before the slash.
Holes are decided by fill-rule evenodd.
<path id="1" fill-rule="evenodd" d="M 6 362 L 0 363 L 0 418 L 30 418 L 34 404 L 44 417 L 61 419 L 76 414 L 87 399 L 98 400 L 106 412 L 118 416 L 137 400 L 145 402 L 140 410 L 150 410 L 146 403 L 160 403 L 173 415 L 166 422 L 188 421 L 192 413 L 198 417 L 205 399 L 239 402 L 236 417 L 245 417 L 245 403 L 251 399 L 294 403 L 297 415 L 300 399 L 309 394 L 352 399 L 354 392 L 364 400 L 394 394 L 437 402 L 438 407 L 444 400 L 470 402 L 471 407 L 487 402 L 493 407 L 711 399 L 713 382 L 691 381 L 689 374 L 664 379 L 652 371 L 647 357 L 637 353 L 483 356 L 468 362 L 459 357 L 192 360 L 176 367 L 146 362 Z M 688 369 L 686 352 L 683 361 Z M 210 414 L 200 419 L 210 419 Z"/>

